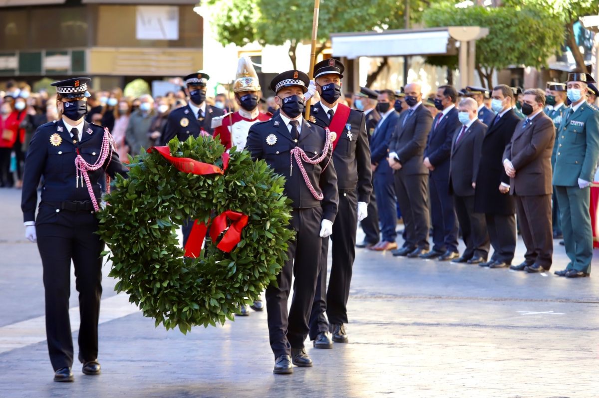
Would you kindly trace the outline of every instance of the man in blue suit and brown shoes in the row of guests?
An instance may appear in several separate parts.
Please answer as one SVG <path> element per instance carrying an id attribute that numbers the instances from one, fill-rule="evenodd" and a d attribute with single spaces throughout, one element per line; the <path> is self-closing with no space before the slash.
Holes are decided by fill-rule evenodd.
<path id="1" fill-rule="evenodd" d="M 377 111 L 381 114 L 379 124 L 374 129 L 370 141 L 370 162 L 373 170 L 374 193 L 379 210 L 381 241 L 370 250 L 383 251 L 397 248 L 397 210 L 395 208 L 395 191 L 393 189 L 393 170 L 389 167 L 389 141 L 395 130 L 399 115 L 392 105 L 395 94 L 391 90 L 381 90 L 378 97 Z"/>

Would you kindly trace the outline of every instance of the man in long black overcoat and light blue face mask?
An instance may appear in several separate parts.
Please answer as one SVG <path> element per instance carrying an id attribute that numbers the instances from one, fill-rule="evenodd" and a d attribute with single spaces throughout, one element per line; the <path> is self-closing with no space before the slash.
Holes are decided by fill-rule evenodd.
<path id="1" fill-rule="evenodd" d="M 493 256 L 480 266 L 504 268 L 512 264 L 516 250 L 516 204 L 510 191 L 510 178 L 501 163 L 506 145 L 520 121 L 513 111 L 513 90 L 505 84 L 494 87 L 491 107 L 497 116 L 486 131 L 476 176 L 474 211 L 485 214 Z"/>

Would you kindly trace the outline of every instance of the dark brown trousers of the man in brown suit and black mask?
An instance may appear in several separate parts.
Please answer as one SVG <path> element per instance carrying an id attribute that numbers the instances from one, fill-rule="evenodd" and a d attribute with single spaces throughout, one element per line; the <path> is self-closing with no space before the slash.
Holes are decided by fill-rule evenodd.
<path id="1" fill-rule="evenodd" d="M 520 232 L 526 246 L 524 259 L 551 268 L 553 259 L 553 229 L 551 226 L 551 195 L 518 196 L 516 208 Z"/>

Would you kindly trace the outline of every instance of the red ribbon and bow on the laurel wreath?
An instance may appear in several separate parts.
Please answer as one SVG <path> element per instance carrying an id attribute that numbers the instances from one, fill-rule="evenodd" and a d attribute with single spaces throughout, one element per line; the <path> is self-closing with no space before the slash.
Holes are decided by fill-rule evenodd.
<path id="1" fill-rule="evenodd" d="M 219 166 L 198 162 L 198 160 L 190 159 L 189 157 L 171 156 L 171 151 L 168 147 L 152 147 L 147 151 L 151 152 L 153 150 L 161 154 L 179 171 L 188 174 L 225 174 L 225 170 L 229 165 L 228 153 L 222 154 L 223 169 L 221 169 Z M 229 226 L 227 225 L 228 220 L 233 221 Z M 225 232 L 223 238 L 220 239 L 220 243 L 216 245 L 216 247 L 229 253 L 241 241 L 241 230 L 247 225 L 248 220 L 249 217 L 247 217 L 246 214 L 226 210 L 212 220 L 212 225 L 210 226 L 210 238 L 216 243 L 216 239 L 219 237 L 220 233 L 228 227 L 228 230 Z M 208 220 L 208 222 L 210 222 L 210 220 Z M 199 254 L 202 252 L 202 244 L 204 243 L 206 232 L 208 232 L 208 227 L 205 223 L 201 223 L 198 220 L 193 221 L 193 227 L 185 244 L 185 257 L 199 257 Z"/>

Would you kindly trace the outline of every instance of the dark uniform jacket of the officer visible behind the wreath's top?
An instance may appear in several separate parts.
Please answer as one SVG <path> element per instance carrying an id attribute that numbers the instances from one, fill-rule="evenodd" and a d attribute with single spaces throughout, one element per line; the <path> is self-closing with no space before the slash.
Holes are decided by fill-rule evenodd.
<path id="1" fill-rule="evenodd" d="M 200 122 L 189 105 L 177 108 L 168 115 L 167 125 L 164 127 L 164 135 L 162 135 L 162 144 L 167 145 L 168 141 L 174 137 L 179 138 L 179 141 L 185 141 L 190 135 L 197 138 L 200 129 L 213 135 L 212 119 L 223 116 L 223 114 L 222 109 L 206 104 L 205 118 Z"/>

